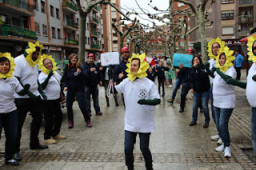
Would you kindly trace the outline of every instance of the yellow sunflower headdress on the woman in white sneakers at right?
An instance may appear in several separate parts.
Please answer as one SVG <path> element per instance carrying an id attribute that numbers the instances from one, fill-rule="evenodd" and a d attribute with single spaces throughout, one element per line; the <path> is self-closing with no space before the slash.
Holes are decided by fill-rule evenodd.
<path id="1" fill-rule="evenodd" d="M 221 66 L 219 64 L 219 56 L 221 53 L 224 53 L 225 54 L 225 57 L 226 57 L 226 61 L 225 61 L 225 64 L 223 66 Z M 233 63 L 232 61 L 234 61 L 235 57 L 232 56 L 234 53 L 233 50 L 230 50 L 229 47 L 225 46 L 224 49 L 219 49 L 218 51 L 218 57 L 216 57 L 216 67 L 219 68 L 222 73 L 225 73 L 227 69 L 229 69 L 229 67 L 233 66 Z"/>

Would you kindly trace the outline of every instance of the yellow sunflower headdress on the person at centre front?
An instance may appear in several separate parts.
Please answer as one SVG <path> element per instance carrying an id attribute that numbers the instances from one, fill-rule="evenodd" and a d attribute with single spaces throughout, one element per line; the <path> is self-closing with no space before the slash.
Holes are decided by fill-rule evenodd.
<path id="1" fill-rule="evenodd" d="M 128 80 L 134 81 L 136 77 L 142 78 L 147 76 L 146 70 L 150 68 L 150 65 L 148 65 L 147 62 L 144 61 L 145 57 L 145 53 L 142 53 L 141 55 L 139 55 L 138 53 L 133 53 L 133 56 L 128 59 L 129 63 L 126 64 L 126 66 L 128 67 L 128 69 L 126 69 L 126 73 L 128 73 Z M 133 58 L 138 58 L 140 60 L 140 66 L 137 73 L 130 73 L 130 64 Z"/>

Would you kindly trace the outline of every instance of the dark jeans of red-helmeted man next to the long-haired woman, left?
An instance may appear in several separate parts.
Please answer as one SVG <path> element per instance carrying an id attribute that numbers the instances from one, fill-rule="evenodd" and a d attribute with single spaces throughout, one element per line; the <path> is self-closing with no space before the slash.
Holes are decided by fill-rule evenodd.
<path id="1" fill-rule="evenodd" d="M 87 112 L 91 113 L 91 110 L 90 110 L 90 94 L 92 95 L 93 100 L 94 100 L 95 112 L 96 113 L 100 112 L 101 109 L 98 105 L 98 86 L 96 86 L 96 87 L 86 86 L 85 89 L 86 89 L 86 110 L 87 110 Z"/>

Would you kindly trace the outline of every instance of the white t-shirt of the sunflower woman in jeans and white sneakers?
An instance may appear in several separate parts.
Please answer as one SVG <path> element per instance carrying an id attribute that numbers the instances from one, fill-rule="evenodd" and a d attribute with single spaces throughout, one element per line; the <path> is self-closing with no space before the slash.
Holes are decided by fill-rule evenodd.
<path id="1" fill-rule="evenodd" d="M 226 70 L 225 74 L 234 79 L 237 77 L 237 72 L 233 66 Z M 234 85 L 228 85 L 217 72 L 214 72 L 214 76 L 214 106 L 221 109 L 234 109 Z"/>

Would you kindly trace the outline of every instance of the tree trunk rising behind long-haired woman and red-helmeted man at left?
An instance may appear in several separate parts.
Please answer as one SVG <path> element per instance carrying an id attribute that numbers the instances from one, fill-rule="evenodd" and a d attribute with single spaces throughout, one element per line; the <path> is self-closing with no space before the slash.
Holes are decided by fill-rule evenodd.
<path id="1" fill-rule="evenodd" d="M 85 62 L 85 52 L 86 52 L 86 17 L 79 16 L 78 61 L 82 64 Z"/>

